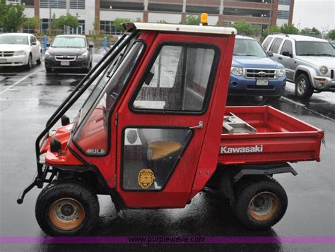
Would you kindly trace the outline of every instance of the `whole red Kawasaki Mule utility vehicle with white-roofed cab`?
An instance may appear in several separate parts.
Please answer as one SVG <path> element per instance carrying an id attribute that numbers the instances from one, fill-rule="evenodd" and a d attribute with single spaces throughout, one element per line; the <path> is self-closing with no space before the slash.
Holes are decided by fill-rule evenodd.
<path id="1" fill-rule="evenodd" d="M 77 85 L 36 141 L 36 218 L 51 236 L 90 232 L 97 194 L 117 211 L 184 208 L 221 191 L 251 229 L 283 217 L 273 174 L 319 161 L 324 133 L 272 107 L 225 107 L 236 30 L 127 23 L 127 32 Z M 93 88 L 74 121 L 65 112 Z M 61 119 L 57 131 L 50 129 Z"/>

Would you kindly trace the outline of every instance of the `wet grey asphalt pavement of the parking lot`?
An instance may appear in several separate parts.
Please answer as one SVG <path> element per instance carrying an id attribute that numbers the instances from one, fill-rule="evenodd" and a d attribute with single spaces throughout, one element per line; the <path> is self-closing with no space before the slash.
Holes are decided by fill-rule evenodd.
<path id="1" fill-rule="evenodd" d="M 95 49 L 97 50 L 97 49 Z M 95 52 L 95 63 L 102 51 Z M 30 71 L 0 68 L 0 236 L 40 236 L 33 188 L 23 205 L 16 198 L 35 174 L 35 138 L 49 116 L 83 78 L 81 73 L 46 74 L 44 65 Z M 230 105 L 257 105 L 257 100 L 231 98 Z M 288 194 L 283 220 L 266 232 L 242 227 L 227 200 L 199 193 L 178 210 L 126 210 L 117 215 L 107 196 L 100 196 L 100 219 L 91 236 L 335 236 L 335 93 L 319 93 L 309 102 L 296 100 L 288 83 L 284 97 L 267 103 L 326 132 L 322 162 L 293 164 L 298 176 L 275 175 Z M 75 113 L 78 107 L 74 107 Z M 72 115 L 70 113 L 70 115 Z M 334 251 L 334 244 L 1 244 L 0 251 Z"/>

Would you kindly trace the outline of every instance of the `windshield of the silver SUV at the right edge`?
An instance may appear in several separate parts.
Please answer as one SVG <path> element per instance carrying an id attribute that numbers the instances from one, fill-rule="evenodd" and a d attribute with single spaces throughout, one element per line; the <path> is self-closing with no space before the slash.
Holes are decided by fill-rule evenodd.
<path id="1" fill-rule="evenodd" d="M 299 56 L 335 56 L 335 49 L 329 42 L 300 41 L 295 47 Z"/>

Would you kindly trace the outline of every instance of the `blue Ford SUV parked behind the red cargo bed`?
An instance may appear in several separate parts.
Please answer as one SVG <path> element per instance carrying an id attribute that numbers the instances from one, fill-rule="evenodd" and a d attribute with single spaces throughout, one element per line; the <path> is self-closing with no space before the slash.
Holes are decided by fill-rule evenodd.
<path id="1" fill-rule="evenodd" d="M 278 99 L 286 86 L 283 65 L 271 59 L 252 37 L 236 36 L 229 95 L 262 96 Z"/>

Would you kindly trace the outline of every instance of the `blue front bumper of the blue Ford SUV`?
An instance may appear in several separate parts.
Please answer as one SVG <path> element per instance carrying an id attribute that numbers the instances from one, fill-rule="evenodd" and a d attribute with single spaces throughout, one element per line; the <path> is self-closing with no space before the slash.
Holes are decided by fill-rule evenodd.
<path id="1" fill-rule="evenodd" d="M 280 96 L 286 87 L 286 76 L 269 79 L 268 85 L 256 85 L 254 78 L 230 75 L 228 95 Z"/>

